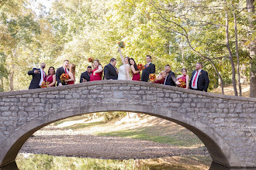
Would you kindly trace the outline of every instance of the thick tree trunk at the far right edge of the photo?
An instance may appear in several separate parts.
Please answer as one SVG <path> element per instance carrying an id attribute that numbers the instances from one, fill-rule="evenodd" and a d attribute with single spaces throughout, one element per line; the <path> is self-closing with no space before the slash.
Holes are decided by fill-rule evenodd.
<path id="1" fill-rule="evenodd" d="M 250 23 L 250 28 L 248 31 L 249 36 L 254 32 L 254 22 L 255 19 L 253 18 L 254 15 L 254 0 L 246 0 L 247 2 L 247 12 L 248 12 L 248 21 Z M 251 56 L 251 71 L 250 71 L 250 97 L 256 97 L 256 41 L 255 39 L 251 39 L 251 43 L 249 46 L 249 53 Z"/>

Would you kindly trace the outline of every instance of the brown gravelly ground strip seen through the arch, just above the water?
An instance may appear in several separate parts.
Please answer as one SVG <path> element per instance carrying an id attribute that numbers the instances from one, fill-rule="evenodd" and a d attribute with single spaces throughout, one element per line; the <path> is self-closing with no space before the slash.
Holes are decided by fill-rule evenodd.
<path id="1" fill-rule="evenodd" d="M 93 135 L 35 136 L 29 138 L 20 152 L 105 159 L 144 159 L 206 154 L 202 149 L 184 149 L 152 141 Z"/>

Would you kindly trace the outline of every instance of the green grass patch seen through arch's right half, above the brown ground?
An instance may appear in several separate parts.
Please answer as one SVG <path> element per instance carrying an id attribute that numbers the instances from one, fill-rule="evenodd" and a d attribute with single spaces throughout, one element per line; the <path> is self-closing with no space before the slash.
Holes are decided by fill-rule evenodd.
<path id="1" fill-rule="evenodd" d="M 152 133 L 152 131 L 155 132 Z M 166 143 L 175 146 L 185 146 L 190 147 L 192 145 L 202 144 L 202 141 L 195 136 L 195 134 L 188 133 L 187 130 L 177 131 L 173 134 L 161 134 L 161 131 L 157 131 L 154 127 L 150 128 L 137 128 L 133 130 L 124 131 L 112 131 L 106 133 L 96 133 L 97 135 L 104 136 L 115 136 L 122 138 L 134 138 L 145 141 L 154 141 L 159 143 Z"/>

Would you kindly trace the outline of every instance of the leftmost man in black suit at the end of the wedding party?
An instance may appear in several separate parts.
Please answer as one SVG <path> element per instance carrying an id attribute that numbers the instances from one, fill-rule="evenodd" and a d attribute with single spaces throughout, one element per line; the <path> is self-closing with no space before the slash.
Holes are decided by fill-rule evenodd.
<path id="1" fill-rule="evenodd" d="M 40 69 L 33 68 L 33 70 L 29 71 L 28 74 L 32 75 L 33 78 L 29 85 L 29 89 L 37 89 L 40 88 L 43 81 L 45 81 L 46 73 L 43 71 L 45 68 L 45 63 L 40 64 Z"/>

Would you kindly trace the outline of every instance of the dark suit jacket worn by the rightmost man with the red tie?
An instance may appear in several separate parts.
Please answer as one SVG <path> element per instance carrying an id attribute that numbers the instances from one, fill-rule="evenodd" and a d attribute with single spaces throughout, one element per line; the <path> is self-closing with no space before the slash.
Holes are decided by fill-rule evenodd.
<path id="1" fill-rule="evenodd" d="M 191 79 L 189 81 L 189 89 L 192 89 L 192 80 L 195 75 L 196 71 L 192 72 Z M 201 72 L 198 75 L 198 80 L 197 80 L 197 89 L 192 89 L 192 90 L 200 90 L 200 91 L 207 91 L 209 86 L 209 77 L 208 73 L 205 70 L 201 70 Z"/>

